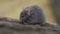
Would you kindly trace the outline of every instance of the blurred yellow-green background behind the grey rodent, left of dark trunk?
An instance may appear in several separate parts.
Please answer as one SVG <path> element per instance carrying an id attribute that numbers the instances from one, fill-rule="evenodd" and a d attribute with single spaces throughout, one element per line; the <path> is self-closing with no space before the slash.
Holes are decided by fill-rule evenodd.
<path id="1" fill-rule="evenodd" d="M 55 22 L 49 0 L 0 0 L 0 17 L 19 19 L 23 7 L 40 5 L 46 11 L 46 21 Z"/>

